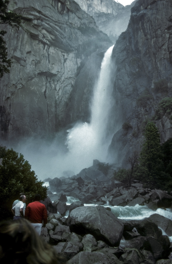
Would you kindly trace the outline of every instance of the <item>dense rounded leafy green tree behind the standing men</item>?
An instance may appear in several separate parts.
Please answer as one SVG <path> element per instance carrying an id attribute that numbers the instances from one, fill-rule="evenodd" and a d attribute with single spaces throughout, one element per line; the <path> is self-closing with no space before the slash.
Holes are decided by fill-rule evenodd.
<path id="1" fill-rule="evenodd" d="M 39 193 L 42 199 L 47 197 L 47 187 L 43 186 L 44 182 L 38 181 L 23 155 L 18 155 L 13 149 L 7 149 L 5 152 L 4 155 L 4 147 L 1 145 L 3 160 L 0 165 L 0 219 L 10 216 L 13 201 L 18 198 L 20 192 L 25 192 L 27 203 L 33 201 L 36 193 Z"/>

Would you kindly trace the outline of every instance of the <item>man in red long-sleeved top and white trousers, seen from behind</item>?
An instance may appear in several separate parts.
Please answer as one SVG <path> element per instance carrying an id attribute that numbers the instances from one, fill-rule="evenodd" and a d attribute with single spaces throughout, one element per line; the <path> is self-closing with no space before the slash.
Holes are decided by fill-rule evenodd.
<path id="1" fill-rule="evenodd" d="M 28 204 L 25 210 L 25 218 L 31 222 L 39 235 L 41 234 L 42 221 L 44 222 L 43 227 L 47 224 L 47 209 L 40 200 L 40 194 L 35 194 L 35 202 Z"/>

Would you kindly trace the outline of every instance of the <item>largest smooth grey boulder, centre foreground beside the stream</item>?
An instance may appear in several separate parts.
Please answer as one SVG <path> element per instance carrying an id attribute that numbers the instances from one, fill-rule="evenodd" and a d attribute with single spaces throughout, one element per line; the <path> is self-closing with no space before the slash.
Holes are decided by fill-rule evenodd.
<path id="1" fill-rule="evenodd" d="M 90 233 L 111 246 L 119 245 L 123 233 L 123 223 L 102 206 L 75 208 L 70 212 L 66 224 L 75 233 Z"/>

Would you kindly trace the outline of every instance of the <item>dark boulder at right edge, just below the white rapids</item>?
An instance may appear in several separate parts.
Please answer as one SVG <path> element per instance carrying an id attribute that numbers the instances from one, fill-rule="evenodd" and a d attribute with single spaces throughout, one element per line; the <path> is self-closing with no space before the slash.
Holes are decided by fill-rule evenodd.
<path id="1" fill-rule="evenodd" d="M 147 218 L 147 220 L 161 227 L 161 229 L 163 229 L 168 236 L 172 236 L 172 220 L 160 214 L 152 214 Z"/>

